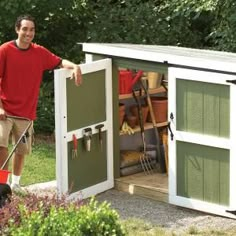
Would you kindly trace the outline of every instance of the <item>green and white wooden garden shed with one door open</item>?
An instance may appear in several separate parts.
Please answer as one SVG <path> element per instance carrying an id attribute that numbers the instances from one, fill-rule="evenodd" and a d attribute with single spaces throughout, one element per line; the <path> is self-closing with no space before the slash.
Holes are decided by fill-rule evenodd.
<path id="1" fill-rule="evenodd" d="M 88 197 L 124 178 L 120 151 L 137 144 L 140 130 L 120 133 L 119 103 L 133 98 L 120 94 L 119 71 L 156 72 L 165 83 L 150 94 L 168 97 L 166 121 L 156 124 L 158 130 L 169 127 L 168 173 L 147 175 L 150 183 L 163 181 L 164 176 L 167 202 L 234 218 L 236 55 L 157 45 L 82 47 L 86 54 L 82 86 L 74 86 L 70 70 L 55 70 L 59 191 Z M 147 141 L 153 142 L 152 132 L 147 124 Z"/>

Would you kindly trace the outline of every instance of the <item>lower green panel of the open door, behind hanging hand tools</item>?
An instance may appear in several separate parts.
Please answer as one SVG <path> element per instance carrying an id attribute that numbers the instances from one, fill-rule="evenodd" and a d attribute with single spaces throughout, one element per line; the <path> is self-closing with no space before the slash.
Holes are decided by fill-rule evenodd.
<path id="1" fill-rule="evenodd" d="M 78 139 L 78 156 L 72 158 L 73 142 L 68 143 L 68 186 L 70 193 L 107 180 L 106 132 L 102 132 L 103 145 L 98 134 L 91 140 L 91 151 L 85 150 L 83 139 Z"/>

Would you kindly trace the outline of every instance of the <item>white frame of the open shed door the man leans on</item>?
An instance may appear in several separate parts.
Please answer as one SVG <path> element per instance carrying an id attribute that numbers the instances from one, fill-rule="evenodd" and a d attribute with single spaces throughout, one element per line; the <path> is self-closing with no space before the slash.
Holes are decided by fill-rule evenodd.
<path id="1" fill-rule="evenodd" d="M 106 86 L 106 119 L 103 124 L 103 131 L 107 134 L 107 180 L 94 186 L 82 189 L 79 192 L 71 194 L 70 197 L 87 198 L 97 193 L 103 192 L 114 187 L 113 174 L 113 111 L 112 111 L 112 66 L 111 59 L 99 60 L 91 63 L 81 64 L 82 74 L 92 73 L 99 70 L 105 70 Z M 66 79 L 70 78 L 72 70 L 58 69 L 54 71 L 55 83 L 55 127 L 56 127 L 56 179 L 57 188 L 60 194 L 68 194 L 68 148 L 67 143 L 73 140 L 73 134 L 77 139 L 83 137 L 83 129 L 80 128 L 67 132 L 67 103 L 66 103 Z M 81 85 L 81 89 L 83 84 Z M 92 95 L 91 95 L 92 96 Z M 81 101 L 83 102 L 83 101 Z M 98 133 L 95 129 L 97 124 L 93 124 L 92 133 Z M 89 174 L 89 173 L 88 173 Z"/>

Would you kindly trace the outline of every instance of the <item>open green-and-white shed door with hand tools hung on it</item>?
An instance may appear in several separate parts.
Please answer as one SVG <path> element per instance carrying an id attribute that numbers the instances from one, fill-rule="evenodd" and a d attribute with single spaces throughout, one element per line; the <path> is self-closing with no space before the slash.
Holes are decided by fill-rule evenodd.
<path id="1" fill-rule="evenodd" d="M 79 87 L 72 70 L 54 73 L 56 175 L 60 193 L 87 198 L 114 186 L 111 60 L 83 64 L 81 71 Z"/>

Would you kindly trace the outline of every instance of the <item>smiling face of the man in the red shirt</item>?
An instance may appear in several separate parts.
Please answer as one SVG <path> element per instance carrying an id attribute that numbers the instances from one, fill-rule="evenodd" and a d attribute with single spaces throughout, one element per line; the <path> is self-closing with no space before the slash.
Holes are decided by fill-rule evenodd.
<path id="1" fill-rule="evenodd" d="M 20 43 L 29 45 L 35 35 L 34 22 L 29 20 L 22 20 L 20 28 L 16 28 L 16 33 L 18 34 Z"/>

